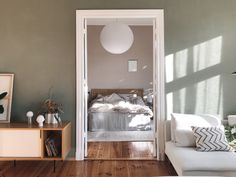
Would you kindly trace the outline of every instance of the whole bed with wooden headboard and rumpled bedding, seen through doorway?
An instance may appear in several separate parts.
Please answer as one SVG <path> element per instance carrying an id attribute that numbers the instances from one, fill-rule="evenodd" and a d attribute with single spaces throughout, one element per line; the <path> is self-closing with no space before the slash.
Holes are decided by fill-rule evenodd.
<path id="1" fill-rule="evenodd" d="M 152 110 L 143 102 L 142 89 L 92 89 L 89 131 L 148 131 Z"/>

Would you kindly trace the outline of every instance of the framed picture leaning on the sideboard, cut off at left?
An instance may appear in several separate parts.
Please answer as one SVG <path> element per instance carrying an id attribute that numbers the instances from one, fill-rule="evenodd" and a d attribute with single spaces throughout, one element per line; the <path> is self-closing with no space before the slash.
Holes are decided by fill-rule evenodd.
<path id="1" fill-rule="evenodd" d="M 0 73 L 0 123 L 11 119 L 14 74 Z"/>

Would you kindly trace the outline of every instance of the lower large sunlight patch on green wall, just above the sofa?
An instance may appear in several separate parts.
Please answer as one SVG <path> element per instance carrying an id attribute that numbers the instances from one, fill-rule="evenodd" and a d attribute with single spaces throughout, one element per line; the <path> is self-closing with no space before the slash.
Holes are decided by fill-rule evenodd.
<path id="1" fill-rule="evenodd" d="M 167 119 L 170 114 L 218 114 L 223 116 L 223 86 L 221 76 L 174 90 L 166 95 Z"/>

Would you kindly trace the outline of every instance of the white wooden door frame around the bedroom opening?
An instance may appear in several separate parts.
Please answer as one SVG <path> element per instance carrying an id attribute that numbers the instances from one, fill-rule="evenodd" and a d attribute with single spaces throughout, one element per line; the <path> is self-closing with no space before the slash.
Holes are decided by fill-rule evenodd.
<path id="1" fill-rule="evenodd" d="M 164 10 L 76 10 L 76 160 L 84 160 L 85 155 L 85 67 L 87 48 L 84 35 L 87 19 L 134 18 L 153 19 L 153 93 L 154 116 L 157 127 L 157 160 L 164 160 L 165 116 L 165 57 L 164 57 Z"/>

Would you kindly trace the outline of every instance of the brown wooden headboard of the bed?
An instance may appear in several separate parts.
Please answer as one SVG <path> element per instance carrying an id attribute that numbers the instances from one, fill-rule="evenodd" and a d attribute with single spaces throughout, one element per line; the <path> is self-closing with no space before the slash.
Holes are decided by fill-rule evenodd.
<path id="1" fill-rule="evenodd" d="M 91 89 L 89 97 L 90 100 L 93 100 L 98 94 L 106 96 L 112 93 L 137 94 L 138 96 L 143 97 L 143 89 Z"/>

